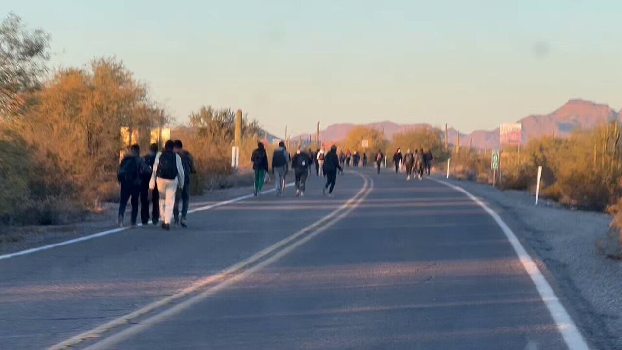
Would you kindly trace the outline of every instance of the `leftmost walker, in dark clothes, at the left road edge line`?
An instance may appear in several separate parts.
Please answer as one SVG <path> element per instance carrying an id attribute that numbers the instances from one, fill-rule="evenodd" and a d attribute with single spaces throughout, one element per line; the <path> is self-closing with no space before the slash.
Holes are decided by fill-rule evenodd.
<path id="1" fill-rule="evenodd" d="M 117 171 L 117 180 L 121 183 L 121 201 L 119 201 L 119 227 L 123 227 L 125 209 L 128 200 L 131 199 L 132 205 L 132 227 L 136 227 L 138 217 L 138 202 L 141 196 L 141 179 L 145 174 L 149 174 L 149 167 L 141 158 L 141 146 L 132 144 L 129 154 L 123 158 Z"/>

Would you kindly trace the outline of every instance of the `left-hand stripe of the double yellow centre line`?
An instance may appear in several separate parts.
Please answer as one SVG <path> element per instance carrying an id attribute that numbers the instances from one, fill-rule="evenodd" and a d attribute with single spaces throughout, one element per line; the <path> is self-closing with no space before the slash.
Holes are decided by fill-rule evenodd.
<path id="1" fill-rule="evenodd" d="M 69 347 L 72 347 L 72 346 L 75 346 L 75 345 L 81 343 L 83 340 L 88 339 L 91 336 L 94 336 L 94 335 L 98 336 L 99 334 L 104 333 L 106 331 L 109 331 L 110 329 L 113 329 L 116 326 L 120 326 L 121 324 L 127 324 L 132 319 L 135 319 L 135 318 L 137 318 L 139 316 L 142 316 L 142 315 L 144 315 L 146 313 L 151 312 L 152 310 L 155 310 L 156 308 L 159 308 L 161 306 L 167 305 L 167 304 L 171 303 L 172 301 L 175 301 L 175 300 L 177 300 L 179 298 L 182 298 L 183 296 L 186 296 L 186 295 L 188 295 L 190 293 L 193 293 L 194 291 L 197 291 L 200 288 L 203 288 L 203 286 L 206 286 L 209 283 L 218 280 L 219 278 L 223 278 L 223 277 L 226 277 L 227 275 L 231 275 L 232 273 L 237 272 L 241 268 L 244 268 L 244 267 L 250 265 L 251 263 L 254 263 L 254 262 L 260 260 L 261 258 L 265 257 L 269 253 L 272 253 L 275 250 L 283 247 L 285 244 L 288 244 L 292 240 L 295 240 L 298 237 L 300 237 L 301 235 L 309 232 L 310 230 L 315 229 L 315 227 L 325 224 L 325 222 L 327 222 L 327 221 L 332 224 L 333 220 L 335 219 L 335 217 L 338 216 L 339 214 L 341 214 L 341 212 L 343 212 L 344 210 L 346 210 L 347 212 L 350 212 L 350 209 L 348 207 L 351 205 L 352 202 L 356 202 L 356 205 L 358 205 L 358 203 L 360 202 L 360 201 L 358 201 L 358 197 L 361 196 L 361 194 L 363 194 L 364 191 L 366 191 L 366 190 L 371 191 L 371 187 L 373 187 L 373 180 L 372 179 L 368 180 L 368 179 L 366 179 L 365 177 L 363 177 L 360 174 L 359 174 L 359 176 L 361 176 L 363 178 L 363 180 L 364 180 L 363 187 L 361 187 L 361 189 L 358 192 L 356 192 L 356 194 L 353 197 L 348 199 L 348 201 L 346 201 L 344 204 L 342 204 L 337 210 L 331 212 L 330 214 L 326 215 L 325 217 L 322 217 L 320 220 L 317 220 L 313 224 L 310 224 L 309 226 L 300 229 L 295 234 L 289 235 L 288 237 L 285 237 L 284 239 L 280 240 L 279 242 L 276 242 L 275 244 L 272 244 L 271 246 L 264 248 L 264 250 L 261 250 L 260 252 L 254 253 L 253 255 L 251 255 L 251 257 L 248 257 L 248 258 L 246 258 L 246 259 L 244 259 L 244 260 L 242 260 L 242 261 L 240 261 L 238 263 L 235 263 L 234 265 L 231 265 L 230 267 L 226 268 L 225 270 L 223 270 L 223 271 L 221 271 L 219 273 L 216 273 L 216 275 L 210 275 L 210 276 L 207 276 L 205 278 L 202 278 L 202 279 L 196 281 L 192 285 L 190 285 L 190 286 L 188 286 L 186 288 L 183 288 L 183 290 L 175 293 L 174 295 L 170 295 L 170 296 L 167 296 L 167 297 L 162 298 L 160 300 L 154 301 L 154 302 L 152 302 L 149 305 L 143 306 L 142 308 L 140 308 L 138 310 L 135 310 L 135 311 L 132 311 L 131 313 L 128 313 L 127 315 L 124 315 L 124 316 L 121 316 L 119 318 L 116 318 L 116 319 L 113 319 L 111 321 L 108 321 L 107 323 L 101 324 L 100 326 L 97 326 L 97 327 L 95 327 L 93 329 L 90 329 L 90 330 L 85 331 L 83 333 L 80 333 L 80 334 L 78 334 L 76 336 L 73 336 L 72 338 L 69 338 L 69 339 L 67 339 L 65 341 L 62 341 L 61 343 L 55 344 L 53 346 L 50 346 L 50 348 L 48 348 L 48 349 L 49 350 L 53 350 L 53 349 L 66 349 L 66 348 L 69 348 Z M 371 182 L 371 186 L 367 187 L 367 184 L 370 183 L 370 182 Z M 287 186 L 289 186 L 289 184 Z M 272 189 L 271 191 L 274 191 L 274 189 Z M 250 196 L 253 196 L 253 195 L 251 194 Z M 363 198 L 366 197 L 366 196 L 367 195 L 364 194 Z M 341 216 L 339 216 L 339 217 L 341 217 Z M 320 229 L 322 229 L 322 227 L 320 227 Z M 318 229 L 318 231 L 320 229 Z M 306 242 L 306 240 L 304 242 Z M 298 247 L 298 245 L 296 245 L 296 247 Z M 274 255 L 273 255 L 273 257 L 274 257 Z M 266 260 L 269 260 L 269 259 L 266 259 Z M 265 265 L 262 265 L 262 266 L 265 266 Z M 249 269 L 249 270 L 251 270 L 251 269 Z M 256 271 L 256 269 L 254 269 L 253 272 L 254 271 Z M 244 276 L 247 276 L 247 275 L 244 275 Z M 231 278 L 236 278 L 236 276 L 237 275 L 234 275 Z M 231 278 L 229 280 L 231 280 Z M 221 286 L 221 285 L 222 286 L 228 285 L 228 284 L 223 285 L 223 283 L 227 283 L 227 281 L 229 281 L 229 280 L 225 280 L 225 281 L 223 281 L 223 282 L 221 282 L 221 283 L 219 283 L 219 284 L 209 288 L 208 290 L 206 290 L 203 293 L 206 293 L 207 291 L 217 291 L 217 290 L 220 290 L 221 288 L 219 286 Z M 193 297 L 193 298 L 195 298 L 195 297 Z M 193 298 L 190 298 L 189 300 L 193 300 Z M 162 313 L 164 313 L 165 311 L 167 311 L 167 310 L 162 311 Z M 157 314 L 157 315 L 160 315 L 160 314 Z"/>

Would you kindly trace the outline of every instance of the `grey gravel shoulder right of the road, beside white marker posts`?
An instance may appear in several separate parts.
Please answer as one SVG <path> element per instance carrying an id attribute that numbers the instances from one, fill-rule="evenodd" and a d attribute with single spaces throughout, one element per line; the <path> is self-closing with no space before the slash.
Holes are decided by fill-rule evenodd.
<path id="1" fill-rule="evenodd" d="M 596 249 L 611 217 L 551 201 L 534 206 L 523 191 L 450 180 L 484 199 L 511 227 L 594 349 L 622 349 L 622 262 Z"/>

